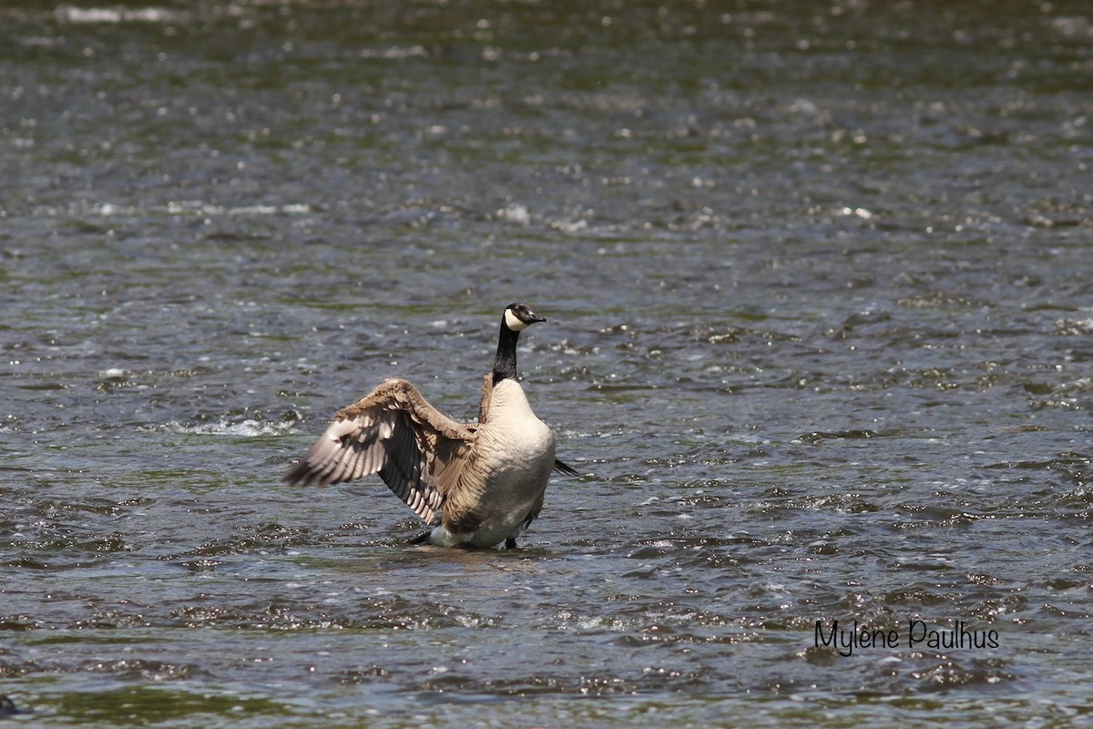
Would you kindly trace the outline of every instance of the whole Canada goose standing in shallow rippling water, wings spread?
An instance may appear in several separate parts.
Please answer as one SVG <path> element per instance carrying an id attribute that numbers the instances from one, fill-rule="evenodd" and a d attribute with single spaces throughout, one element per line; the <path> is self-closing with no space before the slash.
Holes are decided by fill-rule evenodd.
<path id="1" fill-rule="evenodd" d="M 554 433 L 536 418 L 516 379 L 516 340 L 545 321 L 527 304 L 505 307 L 493 371 L 482 384 L 475 424 L 457 423 L 404 379 L 387 379 L 334 415 L 284 481 L 319 485 L 378 473 L 426 524 L 414 540 L 438 546 L 516 546 L 539 516 L 552 469 Z"/>

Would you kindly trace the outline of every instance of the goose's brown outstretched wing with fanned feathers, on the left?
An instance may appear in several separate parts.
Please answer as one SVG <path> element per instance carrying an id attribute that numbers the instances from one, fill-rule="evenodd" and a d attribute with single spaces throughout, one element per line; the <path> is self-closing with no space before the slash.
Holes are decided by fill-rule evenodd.
<path id="1" fill-rule="evenodd" d="M 428 404 L 404 379 L 388 379 L 334 415 L 283 480 L 340 483 L 378 473 L 425 521 L 432 521 L 459 474 L 474 428 Z"/>

